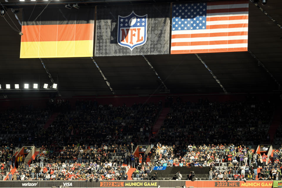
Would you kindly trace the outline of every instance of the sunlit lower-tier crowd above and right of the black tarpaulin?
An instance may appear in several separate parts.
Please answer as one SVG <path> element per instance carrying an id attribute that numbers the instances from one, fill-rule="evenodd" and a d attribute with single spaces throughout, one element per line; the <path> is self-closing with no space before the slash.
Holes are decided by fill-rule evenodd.
<path id="1" fill-rule="evenodd" d="M 210 180 L 280 180 L 281 151 L 273 152 L 274 161 L 265 153 L 257 154 L 244 145 L 209 144 L 162 145 L 152 147 L 150 166 L 210 167 Z M 259 173 L 257 169 L 262 168 Z"/>

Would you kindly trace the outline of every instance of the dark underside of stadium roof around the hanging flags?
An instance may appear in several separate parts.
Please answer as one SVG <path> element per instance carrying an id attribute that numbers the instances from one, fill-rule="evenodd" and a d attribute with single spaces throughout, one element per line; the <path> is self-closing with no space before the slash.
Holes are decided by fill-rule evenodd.
<path id="1" fill-rule="evenodd" d="M 271 17 L 249 3 L 248 48 L 256 58 L 249 52 L 198 54 L 227 92 L 271 92 L 278 90 L 275 79 L 282 83 L 282 29 L 277 25 L 282 25 L 282 1 L 268 0 L 261 7 Z M 8 12 L 20 28 L 11 9 Z M 5 18 L 14 26 L 9 17 Z M 36 81 L 39 75 L 48 79 L 39 59 L 19 58 L 21 37 L 3 17 L 0 17 L 0 37 L 0 84 L 14 84 L 14 80 L 25 78 Z M 194 54 L 145 57 L 171 93 L 223 92 Z M 117 95 L 160 92 L 161 81 L 142 56 L 94 57 L 94 60 Z M 43 61 L 55 80 L 58 76 L 61 95 L 112 94 L 91 58 L 44 58 Z"/>

